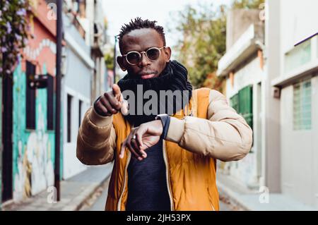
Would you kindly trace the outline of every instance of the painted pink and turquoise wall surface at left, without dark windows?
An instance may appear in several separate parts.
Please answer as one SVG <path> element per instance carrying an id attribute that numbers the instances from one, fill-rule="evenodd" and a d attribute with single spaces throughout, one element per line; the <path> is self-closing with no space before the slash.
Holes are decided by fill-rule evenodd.
<path id="1" fill-rule="evenodd" d="M 41 4 L 40 4 L 41 3 Z M 30 16 L 32 38 L 13 73 L 13 200 L 20 201 L 54 185 L 54 130 L 47 130 L 47 88 L 35 94 L 35 129 L 26 128 L 26 61 L 36 74 L 55 75 L 55 21 L 48 20 L 45 1 Z"/>

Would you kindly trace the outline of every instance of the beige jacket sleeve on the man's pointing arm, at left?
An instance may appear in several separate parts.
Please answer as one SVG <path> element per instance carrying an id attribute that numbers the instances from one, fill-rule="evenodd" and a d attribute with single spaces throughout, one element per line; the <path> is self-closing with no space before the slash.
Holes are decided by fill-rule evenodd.
<path id="1" fill-rule="evenodd" d="M 112 116 L 100 116 L 90 107 L 78 130 L 76 157 L 86 165 L 107 164 L 114 159 L 115 147 Z"/>

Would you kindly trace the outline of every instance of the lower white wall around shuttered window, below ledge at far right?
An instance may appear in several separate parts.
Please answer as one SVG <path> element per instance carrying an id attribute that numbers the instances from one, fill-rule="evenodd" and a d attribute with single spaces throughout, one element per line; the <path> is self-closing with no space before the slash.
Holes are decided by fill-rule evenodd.
<path id="1" fill-rule="evenodd" d="M 318 74 L 317 74 L 318 75 Z M 312 130 L 293 130 L 293 86 L 281 93 L 281 189 L 318 208 L 318 78 L 312 78 Z"/>

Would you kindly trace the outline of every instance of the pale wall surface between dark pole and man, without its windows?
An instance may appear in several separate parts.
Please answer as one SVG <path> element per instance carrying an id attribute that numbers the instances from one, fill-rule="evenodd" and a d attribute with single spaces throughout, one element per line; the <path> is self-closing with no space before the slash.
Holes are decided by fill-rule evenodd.
<path id="1" fill-rule="evenodd" d="M 94 61 L 90 58 L 90 47 L 64 15 L 64 38 L 66 40 L 63 99 L 63 178 L 67 179 L 86 169 L 76 157 L 76 140 L 79 121 L 90 107 L 90 80 L 93 78 Z M 71 104 L 71 142 L 67 140 L 67 95 L 73 97 Z M 79 115 L 79 101 L 82 101 Z"/>

